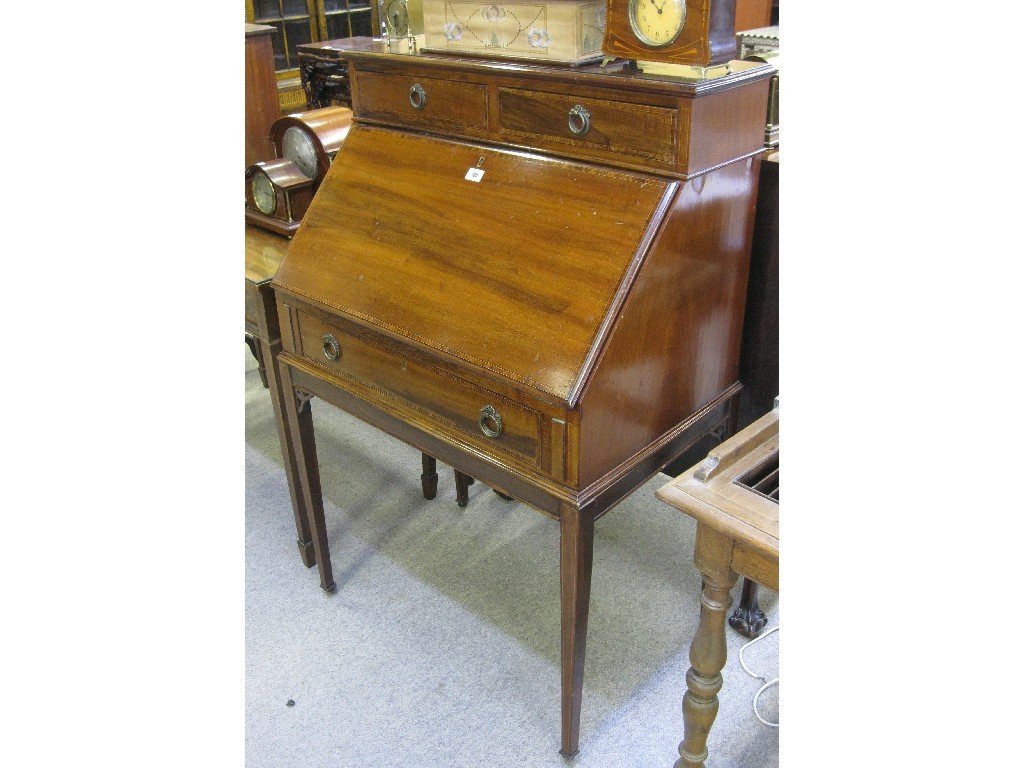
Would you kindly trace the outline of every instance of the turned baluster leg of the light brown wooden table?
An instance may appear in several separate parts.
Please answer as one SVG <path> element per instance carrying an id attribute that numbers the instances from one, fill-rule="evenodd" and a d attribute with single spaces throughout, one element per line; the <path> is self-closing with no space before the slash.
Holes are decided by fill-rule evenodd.
<path id="1" fill-rule="evenodd" d="M 683 694 L 683 740 L 674 768 L 705 768 L 708 734 L 718 716 L 718 692 L 725 667 L 725 612 L 732 597 L 729 590 L 739 578 L 729 567 L 732 542 L 702 525 L 697 528 L 694 563 L 703 577 L 700 592 L 700 623 L 690 645 L 690 669 Z"/>

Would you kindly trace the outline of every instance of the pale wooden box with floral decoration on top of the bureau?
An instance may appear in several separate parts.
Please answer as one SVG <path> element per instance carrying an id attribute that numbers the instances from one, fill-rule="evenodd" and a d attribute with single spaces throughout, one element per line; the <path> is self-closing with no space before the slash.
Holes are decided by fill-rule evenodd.
<path id="1" fill-rule="evenodd" d="M 423 0 L 424 49 L 567 65 L 601 58 L 604 0 Z"/>

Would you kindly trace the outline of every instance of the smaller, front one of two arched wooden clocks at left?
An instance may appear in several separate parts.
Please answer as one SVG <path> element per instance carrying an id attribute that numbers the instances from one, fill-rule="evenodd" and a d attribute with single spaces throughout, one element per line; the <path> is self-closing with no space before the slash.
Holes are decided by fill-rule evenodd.
<path id="1" fill-rule="evenodd" d="M 313 182 L 290 160 L 246 169 L 246 222 L 291 238 L 313 199 Z"/>

